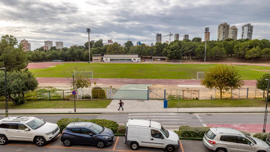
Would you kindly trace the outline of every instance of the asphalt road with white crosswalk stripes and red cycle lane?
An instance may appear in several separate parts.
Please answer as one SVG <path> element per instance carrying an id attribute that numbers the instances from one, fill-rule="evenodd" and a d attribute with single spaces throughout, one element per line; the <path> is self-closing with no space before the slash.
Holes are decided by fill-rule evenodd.
<path id="1" fill-rule="evenodd" d="M 248 132 L 260 132 L 264 113 L 121 113 L 121 114 L 57 114 L 31 115 L 46 122 L 56 123 L 61 118 L 109 119 L 125 124 L 128 119 L 145 119 L 160 122 L 166 129 L 174 130 L 179 126 L 192 127 L 233 127 Z M 0 119 L 4 118 L 0 115 Z M 225 125 L 225 126 L 222 126 Z M 242 127 L 244 126 L 244 127 Z M 261 126 L 261 127 L 260 127 Z M 266 131 L 270 132 L 268 124 Z"/>

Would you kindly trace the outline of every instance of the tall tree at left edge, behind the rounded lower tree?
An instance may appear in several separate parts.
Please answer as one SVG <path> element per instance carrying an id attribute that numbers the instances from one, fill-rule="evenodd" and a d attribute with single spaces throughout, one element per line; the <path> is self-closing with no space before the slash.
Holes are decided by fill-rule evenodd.
<path id="1" fill-rule="evenodd" d="M 0 40 L 0 67 L 7 71 L 21 70 L 27 67 L 27 55 L 17 39 L 12 35 L 2 36 Z"/>

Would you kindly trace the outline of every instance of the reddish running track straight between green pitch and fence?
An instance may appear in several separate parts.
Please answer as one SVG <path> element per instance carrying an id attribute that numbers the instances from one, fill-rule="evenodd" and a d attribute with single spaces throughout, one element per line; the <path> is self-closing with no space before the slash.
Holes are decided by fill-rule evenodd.
<path id="1" fill-rule="evenodd" d="M 67 78 L 41 78 L 37 77 L 39 83 L 67 83 Z M 200 85 L 200 80 L 182 80 L 182 79 L 107 79 L 93 78 L 92 82 L 97 84 L 163 84 L 163 85 Z M 244 86 L 256 86 L 256 80 L 244 80 Z"/>

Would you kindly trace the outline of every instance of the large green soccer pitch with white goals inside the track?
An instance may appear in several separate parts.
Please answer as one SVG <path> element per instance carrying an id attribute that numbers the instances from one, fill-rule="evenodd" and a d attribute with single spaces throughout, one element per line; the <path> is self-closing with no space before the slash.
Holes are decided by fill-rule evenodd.
<path id="1" fill-rule="evenodd" d="M 129 78 L 129 79 L 196 79 L 197 72 L 204 72 L 216 64 L 101 64 L 101 63 L 64 63 L 50 68 L 29 69 L 36 77 L 71 77 L 71 73 L 78 71 L 92 71 L 94 78 Z M 242 79 L 256 80 L 269 67 L 249 66 L 241 67 Z"/>

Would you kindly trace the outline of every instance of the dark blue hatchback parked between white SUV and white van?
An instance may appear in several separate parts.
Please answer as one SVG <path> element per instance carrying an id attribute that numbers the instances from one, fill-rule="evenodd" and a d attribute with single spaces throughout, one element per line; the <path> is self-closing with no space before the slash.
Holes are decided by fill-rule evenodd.
<path id="1" fill-rule="evenodd" d="M 103 148 L 114 142 L 114 133 L 110 129 L 95 123 L 70 123 L 63 130 L 61 141 L 65 146 L 71 146 L 71 144 L 91 144 L 96 145 L 98 148 Z"/>

